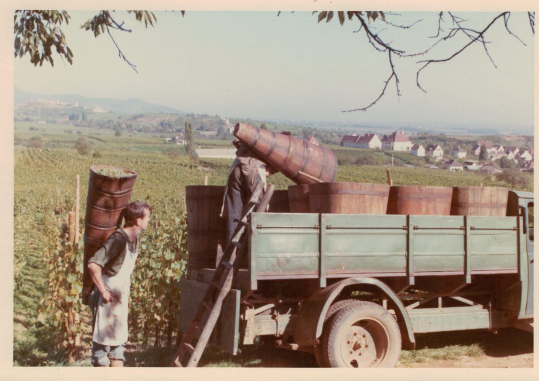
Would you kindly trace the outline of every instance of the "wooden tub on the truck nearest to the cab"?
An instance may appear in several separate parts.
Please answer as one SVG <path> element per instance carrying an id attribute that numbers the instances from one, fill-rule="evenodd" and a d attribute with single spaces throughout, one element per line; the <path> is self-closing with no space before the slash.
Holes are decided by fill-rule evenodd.
<path id="1" fill-rule="evenodd" d="M 455 186 L 453 216 L 505 216 L 509 190 L 498 186 Z"/>

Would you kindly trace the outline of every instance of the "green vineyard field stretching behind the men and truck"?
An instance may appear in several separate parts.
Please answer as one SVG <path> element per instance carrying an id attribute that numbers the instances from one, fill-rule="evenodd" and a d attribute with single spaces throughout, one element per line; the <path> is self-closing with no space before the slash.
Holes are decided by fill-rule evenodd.
<path id="1" fill-rule="evenodd" d="M 73 148 L 82 136 L 92 143 L 91 150 L 85 155 Z M 29 148 L 36 137 L 41 141 L 40 148 Z M 195 143 L 196 147 L 231 147 L 230 141 L 197 140 Z M 388 167 L 353 164 L 355 158 L 365 154 L 362 150 L 328 147 L 336 151 L 343 163 L 338 167 L 336 181 L 386 183 Z M 381 155 L 382 164 L 391 160 L 382 153 L 377 155 Z M 142 236 L 141 253 L 133 275 L 128 365 L 165 365 L 174 351 L 181 292 L 178 285 L 186 261 L 184 189 L 186 185 L 202 185 L 205 176 L 208 176 L 209 185 L 224 185 L 231 162 L 194 160 L 185 155 L 182 147 L 165 143 L 160 134 L 114 136 L 114 131 L 108 129 L 17 123 L 13 205 L 14 365 L 89 365 L 89 311 L 81 306 L 79 299 L 82 250 L 67 243 L 66 213 L 74 210 L 75 177 L 80 175 L 82 237 L 89 167 L 94 164 L 136 171 L 131 198 L 153 206 L 151 228 Z M 396 160 L 395 164 L 399 162 L 402 160 Z M 508 186 L 493 177 L 468 172 L 455 174 L 405 167 L 391 167 L 390 170 L 394 185 Z M 527 176 L 531 180 L 532 177 Z M 269 181 L 277 189 L 286 189 L 293 184 L 281 174 L 270 177 Z M 532 183 L 530 181 L 529 186 L 521 189 L 533 190 Z M 73 318 L 70 322 L 75 315 L 79 320 Z M 82 338 L 82 352 L 74 350 L 75 334 Z M 452 342 L 446 347 L 450 354 L 444 356 L 449 358 L 461 356 L 457 355 L 459 353 L 464 356 L 484 354 L 476 343 Z M 416 364 L 414 359 L 418 356 L 438 356 L 429 348 L 432 344 L 420 348 L 422 352 L 412 351 L 417 352 L 417 356 L 403 351 L 402 366 Z M 212 350 L 205 355 L 203 364 L 272 366 L 267 363 L 267 352 L 261 344 L 236 358 Z M 275 352 L 278 358 L 287 357 L 286 354 L 279 355 L 281 352 Z M 288 364 L 285 366 L 315 366 L 314 359 L 305 354 L 293 356 L 299 358 L 299 363 L 285 362 Z"/>

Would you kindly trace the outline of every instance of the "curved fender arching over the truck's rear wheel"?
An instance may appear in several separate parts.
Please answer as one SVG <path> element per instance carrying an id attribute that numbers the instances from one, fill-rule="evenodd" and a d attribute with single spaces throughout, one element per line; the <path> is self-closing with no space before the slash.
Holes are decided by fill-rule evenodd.
<path id="1" fill-rule="evenodd" d="M 404 322 L 404 327 L 401 327 L 401 330 L 404 328 L 406 331 L 403 332 L 403 344 L 406 348 L 413 349 L 416 345 L 416 339 L 406 308 L 391 288 L 375 278 L 348 278 L 318 290 L 301 307 L 298 321 L 295 324 L 294 341 L 300 346 L 306 347 L 319 344 L 318 338 L 322 335 L 324 317 L 326 317 L 329 307 L 344 287 L 352 285 L 375 286 L 395 303 L 397 306 L 395 313 L 399 320 Z"/>

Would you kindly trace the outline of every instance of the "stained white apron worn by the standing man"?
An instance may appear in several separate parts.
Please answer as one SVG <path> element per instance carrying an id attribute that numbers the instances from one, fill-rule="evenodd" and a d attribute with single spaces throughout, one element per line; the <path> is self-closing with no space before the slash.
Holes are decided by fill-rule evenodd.
<path id="1" fill-rule="evenodd" d="M 99 297 L 93 341 L 102 345 L 120 345 L 127 342 L 129 289 L 137 253 L 130 252 L 127 243 L 126 250 L 126 258 L 118 274 L 110 277 L 103 275 L 103 283 L 113 294 L 114 301 L 103 303 L 103 297 Z"/>

